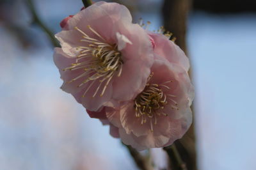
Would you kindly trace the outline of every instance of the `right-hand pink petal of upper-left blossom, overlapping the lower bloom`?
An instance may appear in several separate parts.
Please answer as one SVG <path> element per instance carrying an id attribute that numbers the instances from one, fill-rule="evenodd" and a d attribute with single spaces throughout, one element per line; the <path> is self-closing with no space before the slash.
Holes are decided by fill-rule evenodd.
<path id="1" fill-rule="evenodd" d="M 132 42 L 132 45 L 127 43 L 125 49 L 121 50 L 124 65 L 122 75 L 113 82 L 113 98 L 127 101 L 142 91 L 150 74 L 154 56 L 147 33 L 140 26 L 127 26 L 127 23 L 122 22 L 118 24 L 118 30 Z"/>

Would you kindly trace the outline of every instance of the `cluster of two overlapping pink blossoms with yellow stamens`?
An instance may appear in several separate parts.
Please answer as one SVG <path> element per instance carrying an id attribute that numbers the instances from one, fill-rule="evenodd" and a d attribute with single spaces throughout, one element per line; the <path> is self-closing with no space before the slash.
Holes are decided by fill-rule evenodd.
<path id="1" fill-rule="evenodd" d="M 184 52 L 168 37 L 132 24 L 117 3 L 94 3 L 61 22 L 54 63 L 61 89 L 113 137 L 138 150 L 168 146 L 188 130 L 193 100 Z"/>

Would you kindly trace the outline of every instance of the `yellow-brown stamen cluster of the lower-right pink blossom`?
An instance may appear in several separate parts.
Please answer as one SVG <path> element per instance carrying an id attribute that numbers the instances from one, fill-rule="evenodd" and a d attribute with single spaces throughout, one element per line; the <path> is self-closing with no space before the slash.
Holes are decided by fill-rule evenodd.
<path id="1" fill-rule="evenodd" d="M 152 74 L 148 79 L 152 77 Z M 179 110 L 177 102 L 172 99 L 176 96 L 168 93 L 170 87 L 166 84 L 170 82 L 173 81 L 163 82 L 162 84 L 147 84 L 145 89 L 134 100 L 135 116 L 141 118 L 141 125 L 147 123 L 147 120 L 149 120 L 150 130 L 152 132 L 153 122 L 154 125 L 157 125 L 157 117 L 168 116 L 168 114 L 163 112 L 165 105 L 170 103 L 172 109 Z"/>

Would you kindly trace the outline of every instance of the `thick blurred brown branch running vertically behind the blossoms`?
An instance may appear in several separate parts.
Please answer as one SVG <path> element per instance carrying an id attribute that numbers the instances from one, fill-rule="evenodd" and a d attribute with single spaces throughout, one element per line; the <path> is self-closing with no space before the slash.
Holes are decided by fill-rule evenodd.
<path id="1" fill-rule="evenodd" d="M 177 38 L 175 43 L 180 46 L 186 54 L 188 54 L 186 45 L 186 29 L 188 13 L 191 8 L 192 0 L 164 0 L 163 19 L 166 30 L 171 31 L 173 36 Z M 191 69 L 189 71 L 191 77 Z M 193 106 L 192 106 L 193 109 Z M 195 115 L 195 114 L 194 114 Z M 195 116 L 194 116 L 195 118 Z M 195 150 L 195 120 L 189 128 L 188 132 L 180 139 L 175 141 L 177 151 L 189 170 L 196 170 L 196 150 Z M 171 153 L 172 156 L 174 153 Z"/>

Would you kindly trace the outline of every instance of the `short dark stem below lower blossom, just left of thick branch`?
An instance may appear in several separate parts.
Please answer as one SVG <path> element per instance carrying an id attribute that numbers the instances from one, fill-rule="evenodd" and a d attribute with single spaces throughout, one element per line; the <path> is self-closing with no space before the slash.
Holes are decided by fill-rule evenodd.
<path id="1" fill-rule="evenodd" d="M 173 170 L 175 170 L 175 169 L 187 170 L 186 164 L 183 162 L 182 158 L 180 157 L 180 153 L 177 150 L 175 144 L 172 144 L 171 146 L 164 147 L 163 149 L 167 152 L 167 154 L 173 164 L 172 165 Z"/>

